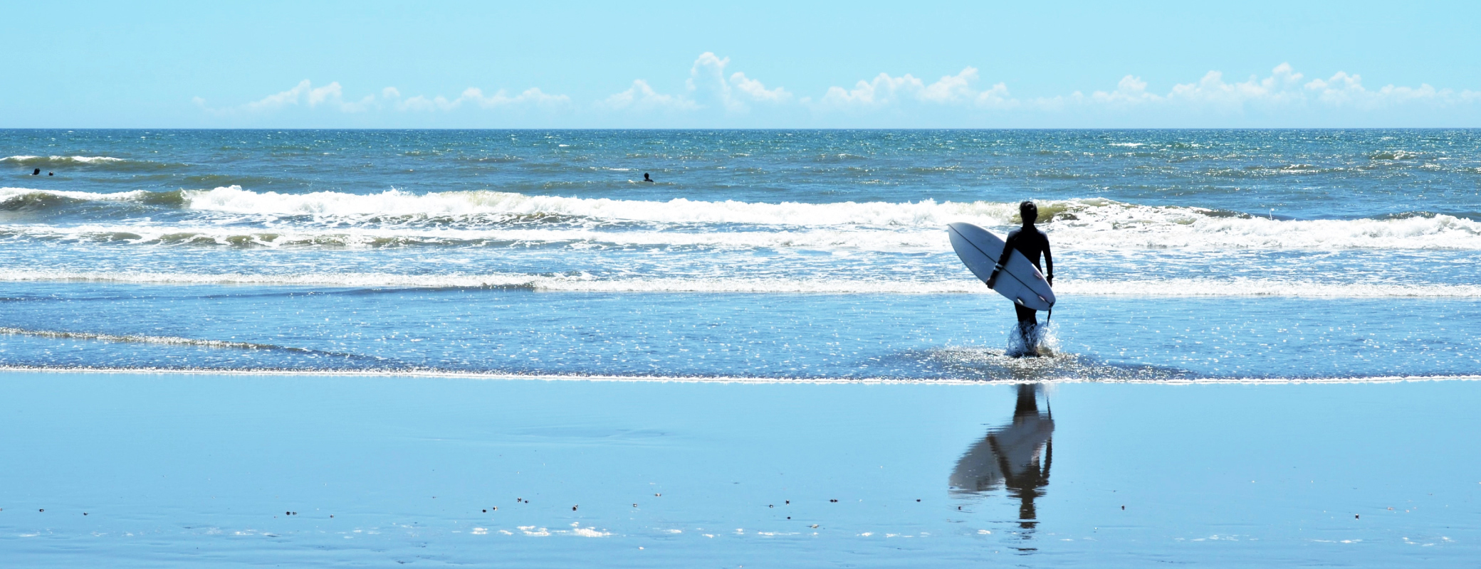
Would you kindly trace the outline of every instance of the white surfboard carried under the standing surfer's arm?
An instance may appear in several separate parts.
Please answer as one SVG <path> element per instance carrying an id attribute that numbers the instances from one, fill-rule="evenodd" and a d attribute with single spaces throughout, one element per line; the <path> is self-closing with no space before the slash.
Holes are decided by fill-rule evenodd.
<path id="1" fill-rule="evenodd" d="M 992 232 L 972 223 L 946 225 L 951 234 L 951 248 L 957 250 L 961 262 L 972 269 L 973 275 L 988 282 L 992 276 L 992 266 L 1003 256 L 1003 239 Z M 1038 272 L 1019 251 L 1013 251 L 1003 270 L 998 272 L 998 285 L 994 288 L 1009 300 L 1034 310 L 1049 310 L 1054 307 L 1054 290 L 1049 288 L 1044 273 Z"/>

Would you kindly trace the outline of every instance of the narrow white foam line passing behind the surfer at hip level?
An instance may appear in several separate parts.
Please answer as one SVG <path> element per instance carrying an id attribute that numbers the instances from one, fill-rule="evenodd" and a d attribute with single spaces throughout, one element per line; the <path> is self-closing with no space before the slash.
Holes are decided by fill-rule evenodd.
<path id="1" fill-rule="evenodd" d="M 335 288 L 524 288 L 552 293 L 812 293 L 812 294 L 991 294 L 980 281 L 862 281 L 847 278 L 622 278 L 524 273 L 404 275 L 404 273 L 170 273 L 0 270 L 0 282 L 117 282 L 161 285 L 287 285 Z M 1118 279 L 1071 281 L 1054 285 L 1062 297 L 1286 297 L 1286 299 L 1481 299 L 1481 285 L 1451 284 L 1323 284 L 1281 279 Z"/>

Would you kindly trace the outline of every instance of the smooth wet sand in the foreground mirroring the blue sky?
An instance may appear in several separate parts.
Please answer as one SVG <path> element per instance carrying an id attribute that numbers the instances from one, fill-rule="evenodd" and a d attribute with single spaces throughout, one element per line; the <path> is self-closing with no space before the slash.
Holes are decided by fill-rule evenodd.
<path id="1" fill-rule="evenodd" d="M 4 372 L 0 405 L 12 566 L 1481 559 L 1478 381 Z"/>

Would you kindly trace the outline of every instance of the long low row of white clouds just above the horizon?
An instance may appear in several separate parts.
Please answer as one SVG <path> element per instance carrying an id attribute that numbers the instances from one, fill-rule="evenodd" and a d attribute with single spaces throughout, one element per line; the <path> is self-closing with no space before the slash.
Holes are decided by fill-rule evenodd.
<path id="1" fill-rule="evenodd" d="M 484 93 L 468 87 L 456 98 L 416 95 L 406 98 L 397 87 L 384 87 L 378 95 L 347 99 L 345 89 L 336 81 L 314 86 L 310 80 L 299 81 L 292 89 L 268 95 L 238 106 L 215 109 L 201 98 L 193 100 L 212 114 L 273 114 L 287 108 L 326 109 L 344 114 L 366 112 L 452 112 L 458 109 L 508 109 L 542 108 L 558 112 L 560 117 L 586 117 L 600 123 L 603 114 L 618 117 L 622 112 L 665 112 L 690 117 L 684 121 L 708 118 L 736 120 L 752 112 L 770 112 L 778 117 L 804 117 L 798 111 L 812 111 L 815 117 L 844 112 L 853 117 L 881 115 L 909 118 L 912 115 L 935 117 L 939 123 L 960 118 L 1050 118 L 1093 117 L 1091 123 L 1127 117 L 1228 117 L 1250 114 L 1253 117 L 1299 117 L 1293 112 L 1325 112 L 1328 117 L 1377 117 L 1379 109 L 1398 108 L 1457 108 L 1471 105 L 1469 112 L 1481 111 L 1481 92 L 1437 89 L 1429 84 L 1417 87 L 1388 84 L 1368 89 L 1363 77 L 1337 71 L 1327 78 L 1308 80 L 1290 64 L 1277 65 L 1269 74 L 1250 75 L 1243 81 L 1225 80 L 1223 72 L 1208 71 L 1197 81 L 1177 83 L 1167 90 L 1154 90 L 1149 81 L 1139 75 L 1123 75 L 1105 90 L 1072 92 L 1069 95 L 1019 98 L 1006 83 L 994 83 L 979 89 L 980 71 L 966 67 L 954 75 L 943 75 L 927 83 L 915 75 L 890 75 L 881 72 L 860 80 L 852 87 L 832 86 L 819 98 L 797 98 L 780 86 L 763 81 L 732 69 L 730 58 L 714 52 L 701 53 L 690 65 L 684 89 L 678 93 L 661 93 L 647 80 L 634 80 L 626 90 L 613 93 L 591 103 L 573 103 L 566 95 L 551 95 L 539 87 L 518 93 L 499 89 Z M 778 114 L 783 112 L 783 114 Z M 1339 112 L 1339 114 L 1331 114 Z M 893 120 L 893 118 L 892 118 Z M 1078 120 L 1078 118 L 1077 118 Z"/>

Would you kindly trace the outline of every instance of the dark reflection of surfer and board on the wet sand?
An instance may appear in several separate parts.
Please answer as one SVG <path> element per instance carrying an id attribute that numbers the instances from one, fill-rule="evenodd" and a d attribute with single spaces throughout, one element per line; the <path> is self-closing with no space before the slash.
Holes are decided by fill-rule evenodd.
<path id="1" fill-rule="evenodd" d="M 1013 423 L 992 429 L 957 461 L 951 486 L 964 492 L 985 492 L 1003 485 L 1019 500 L 1019 528 L 1037 522 L 1034 498 L 1049 486 L 1049 467 L 1054 461 L 1054 418 L 1038 411 L 1040 387 L 1017 386 Z"/>

